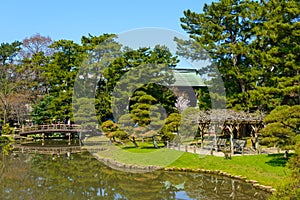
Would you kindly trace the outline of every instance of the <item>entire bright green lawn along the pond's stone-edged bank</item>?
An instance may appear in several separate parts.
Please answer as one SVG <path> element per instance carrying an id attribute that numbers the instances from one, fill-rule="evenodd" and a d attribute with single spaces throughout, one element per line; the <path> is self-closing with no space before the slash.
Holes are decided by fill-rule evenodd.
<path id="1" fill-rule="evenodd" d="M 221 170 L 232 175 L 241 175 L 260 184 L 278 187 L 290 170 L 282 154 L 232 156 L 231 159 L 217 156 L 199 156 L 166 148 L 153 148 L 151 142 L 109 146 L 109 150 L 98 152 L 100 157 L 112 158 L 126 164 L 191 169 Z"/>

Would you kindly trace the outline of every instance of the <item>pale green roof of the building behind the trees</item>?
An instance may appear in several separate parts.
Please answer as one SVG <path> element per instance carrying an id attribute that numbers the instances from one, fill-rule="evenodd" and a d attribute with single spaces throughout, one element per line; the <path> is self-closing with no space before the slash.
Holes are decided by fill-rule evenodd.
<path id="1" fill-rule="evenodd" d="M 203 87 L 205 86 L 202 78 L 196 74 L 194 70 L 174 70 L 175 82 L 172 86 L 189 86 Z"/>

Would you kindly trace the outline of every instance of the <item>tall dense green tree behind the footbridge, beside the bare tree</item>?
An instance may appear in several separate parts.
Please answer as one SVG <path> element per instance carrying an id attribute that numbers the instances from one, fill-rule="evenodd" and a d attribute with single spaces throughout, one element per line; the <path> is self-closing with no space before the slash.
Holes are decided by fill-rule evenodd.
<path id="1" fill-rule="evenodd" d="M 42 76 L 47 83 L 48 93 L 54 97 L 49 106 L 52 109 L 51 115 L 63 121 L 66 110 L 72 115 L 74 81 L 86 55 L 79 44 L 70 40 L 55 41 L 50 48 L 54 50 L 54 54 L 43 67 Z"/>

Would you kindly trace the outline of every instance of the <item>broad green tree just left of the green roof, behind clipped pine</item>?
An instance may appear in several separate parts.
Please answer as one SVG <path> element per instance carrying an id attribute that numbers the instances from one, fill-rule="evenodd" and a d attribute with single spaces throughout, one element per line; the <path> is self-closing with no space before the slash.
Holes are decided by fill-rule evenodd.
<path id="1" fill-rule="evenodd" d="M 122 59 L 122 62 L 111 66 L 118 67 L 113 70 L 114 73 L 105 73 L 104 76 L 109 88 L 114 91 L 114 112 L 120 116 L 125 114 L 128 111 L 128 99 L 136 90 L 146 91 L 158 99 L 168 112 L 172 112 L 176 99 L 170 91 L 159 85 L 174 81 L 171 69 L 178 62 L 177 57 L 167 47 L 157 45 L 153 49 L 125 49 Z M 110 68 L 107 72 L 110 72 Z"/>

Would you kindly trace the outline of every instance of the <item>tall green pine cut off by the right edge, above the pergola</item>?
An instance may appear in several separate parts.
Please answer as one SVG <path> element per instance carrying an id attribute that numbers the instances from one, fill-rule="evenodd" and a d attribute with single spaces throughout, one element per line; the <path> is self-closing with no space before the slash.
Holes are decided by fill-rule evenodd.
<path id="1" fill-rule="evenodd" d="M 260 69 L 251 107 L 270 111 L 300 104 L 300 2 L 263 1 L 253 29 L 253 65 Z"/>

